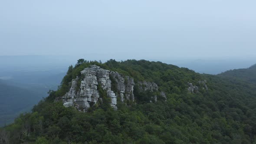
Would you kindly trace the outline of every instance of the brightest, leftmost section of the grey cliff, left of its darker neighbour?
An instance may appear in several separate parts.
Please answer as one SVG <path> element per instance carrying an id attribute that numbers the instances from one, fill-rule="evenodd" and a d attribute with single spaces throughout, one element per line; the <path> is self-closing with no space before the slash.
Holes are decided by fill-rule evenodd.
<path id="1" fill-rule="evenodd" d="M 62 96 L 63 105 L 66 107 L 73 105 L 79 110 L 86 111 L 100 98 L 98 86 L 101 86 L 102 89 L 107 92 L 108 97 L 111 98 L 110 105 L 114 109 L 117 109 L 117 98 L 115 93 L 111 90 L 109 73 L 110 71 L 101 69 L 96 65 L 85 68 L 81 72 L 81 77 L 84 78 L 81 79 L 80 86 L 78 85 L 79 78 L 73 79 L 69 92 Z M 78 86 L 79 88 L 77 88 Z"/>

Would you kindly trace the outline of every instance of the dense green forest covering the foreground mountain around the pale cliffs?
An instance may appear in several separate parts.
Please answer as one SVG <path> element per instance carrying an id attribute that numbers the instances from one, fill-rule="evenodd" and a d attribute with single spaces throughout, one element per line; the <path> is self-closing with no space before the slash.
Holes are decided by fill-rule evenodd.
<path id="1" fill-rule="evenodd" d="M 150 103 L 150 94 L 135 91 L 135 101 L 127 105 L 118 101 L 117 111 L 107 98 L 87 112 L 65 108 L 56 98 L 65 95 L 72 79 L 90 65 L 128 75 L 135 82 L 155 82 L 167 100 Z M 79 59 L 69 66 L 57 91 L 49 91 L 31 113 L 0 129 L 0 144 L 254 144 L 256 85 L 249 77 L 252 73 L 207 75 L 162 62 Z M 202 80 L 207 80 L 208 90 L 188 92 L 188 82 L 200 85 Z"/>

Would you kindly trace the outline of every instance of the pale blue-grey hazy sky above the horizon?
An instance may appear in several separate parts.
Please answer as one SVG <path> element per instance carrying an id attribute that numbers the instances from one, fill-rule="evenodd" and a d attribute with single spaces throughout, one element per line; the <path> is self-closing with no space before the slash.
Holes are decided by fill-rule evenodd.
<path id="1" fill-rule="evenodd" d="M 0 0 L 0 55 L 256 56 L 256 0 Z"/>

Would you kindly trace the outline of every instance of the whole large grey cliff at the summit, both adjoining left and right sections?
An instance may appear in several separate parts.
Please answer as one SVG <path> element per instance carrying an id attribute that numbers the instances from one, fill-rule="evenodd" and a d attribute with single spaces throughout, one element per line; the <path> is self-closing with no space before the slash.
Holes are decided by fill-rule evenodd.
<path id="1" fill-rule="evenodd" d="M 62 96 L 63 105 L 65 107 L 75 106 L 75 108 L 86 111 L 98 100 L 100 95 L 98 87 L 101 86 L 103 90 L 107 92 L 109 98 L 111 98 L 110 105 L 117 110 L 117 96 L 121 97 L 121 101 L 129 99 L 134 101 L 133 87 L 134 81 L 128 76 L 121 76 L 118 72 L 110 72 L 105 69 L 101 69 L 99 66 L 91 65 L 90 68 L 85 68 L 81 71 L 81 84 L 79 78 L 72 80 L 71 88 L 66 95 Z M 117 86 L 117 92 L 112 91 L 112 82 L 110 76 Z M 78 88 L 79 86 L 79 88 Z"/>

